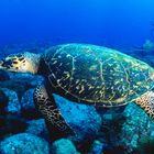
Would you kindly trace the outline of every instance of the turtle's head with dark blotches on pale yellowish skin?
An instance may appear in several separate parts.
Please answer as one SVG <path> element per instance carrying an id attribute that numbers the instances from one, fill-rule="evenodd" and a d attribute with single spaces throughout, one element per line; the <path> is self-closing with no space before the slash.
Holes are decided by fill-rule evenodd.
<path id="1" fill-rule="evenodd" d="M 40 54 L 29 52 L 12 54 L 0 61 L 0 69 L 16 73 L 37 74 L 40 57 Z"/>

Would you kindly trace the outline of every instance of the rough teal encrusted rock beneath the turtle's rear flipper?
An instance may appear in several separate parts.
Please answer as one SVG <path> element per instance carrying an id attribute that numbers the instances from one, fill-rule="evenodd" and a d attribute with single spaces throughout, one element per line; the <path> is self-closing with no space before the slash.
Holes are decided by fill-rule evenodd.
<path id="1" fill-rule="evenodd" d="M 139 146 L 141 139 L 154 139 L 154 121 L 141 108 L 130 103 L 123 114 L 127 119 L 123 123 L 120 139 L 122 144 L 130 151 Z"/>

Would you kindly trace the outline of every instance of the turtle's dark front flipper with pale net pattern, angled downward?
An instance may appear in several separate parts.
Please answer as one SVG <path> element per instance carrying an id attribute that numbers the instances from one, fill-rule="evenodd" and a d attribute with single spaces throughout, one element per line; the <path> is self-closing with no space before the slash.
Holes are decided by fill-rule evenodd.
<path id="1" fill-rule="evenodd" d="M 45 86 L 38 86 L 35 89 L 34 102 L 45 119 L 52 141 L 64 138 L 68 134 L 75 134 L 57 109 L 53 95 L 47 95 Z"/>

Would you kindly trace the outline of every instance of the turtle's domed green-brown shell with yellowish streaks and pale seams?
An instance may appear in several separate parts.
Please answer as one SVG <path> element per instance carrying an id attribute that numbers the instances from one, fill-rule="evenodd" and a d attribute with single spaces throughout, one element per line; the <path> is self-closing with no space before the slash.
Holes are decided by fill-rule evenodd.
<path id="1" fill-rule="evenodd" d="M 154 87 L 154 69 L 118 51 L 64 44 L 44 54 L 53 87 L 89 105 L 112 107 L 133 101 Z"/>

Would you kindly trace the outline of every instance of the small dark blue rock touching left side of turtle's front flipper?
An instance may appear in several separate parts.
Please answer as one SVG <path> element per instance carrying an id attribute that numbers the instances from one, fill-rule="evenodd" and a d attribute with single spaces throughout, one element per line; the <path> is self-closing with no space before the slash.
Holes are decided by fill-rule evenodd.
<path id="1" fill-rule="evenodd" d="M 40 118 L 38 111 L 35 109 L 34 100 L 33 100 L 34 89 L 28 90 L 21 99 L 21 110 L 22 117 L 26 119 L 36 119 Z"/>

